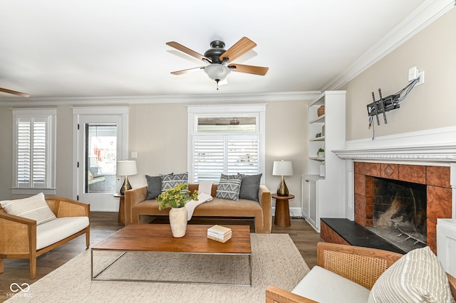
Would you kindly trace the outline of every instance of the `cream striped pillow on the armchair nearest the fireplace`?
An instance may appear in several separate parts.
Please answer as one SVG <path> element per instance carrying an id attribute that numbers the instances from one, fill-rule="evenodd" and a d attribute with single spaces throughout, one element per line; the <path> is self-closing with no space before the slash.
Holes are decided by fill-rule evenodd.
<path id="1" fill-rule="evenodd" d="M 411 250 L 378 278 L 368 302 L 453 302 L 447 275 L 428 246 Z"/>

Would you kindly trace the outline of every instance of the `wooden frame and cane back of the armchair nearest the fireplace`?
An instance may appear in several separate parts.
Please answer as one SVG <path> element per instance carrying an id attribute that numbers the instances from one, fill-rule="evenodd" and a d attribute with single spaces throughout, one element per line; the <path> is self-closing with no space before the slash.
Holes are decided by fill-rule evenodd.
<path id="1" fill-rule="evenodd" d="M 368 289 L 372 289 L 378 277 L 402 256 L 396 252 L 375 248 L 323 242 L 317 244 L 318 266 L 331 270 L 331 272 L 346 277 Z M 378 266 L 372 266 L 373 263 Z M 448 273 L 447 276 L 452 295 L 456 297 L 456 278 Z M 278 287 L 269 286 L 266 289 L 266 303 L 274 302 L 302 303 L 315 301 Z"/>

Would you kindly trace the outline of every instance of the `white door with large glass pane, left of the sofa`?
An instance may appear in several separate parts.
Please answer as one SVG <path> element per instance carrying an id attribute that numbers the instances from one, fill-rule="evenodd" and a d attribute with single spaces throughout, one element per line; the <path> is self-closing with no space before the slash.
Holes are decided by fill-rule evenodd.
<path id="1" fill-rule="evenodd" d="M 76 199 L 90 211 L 118 211 L 120 177 L 116 164 L 124 159 L 122 115 L 78 115 Z M 75 191 L 73 190 L 73 193 Z"/>

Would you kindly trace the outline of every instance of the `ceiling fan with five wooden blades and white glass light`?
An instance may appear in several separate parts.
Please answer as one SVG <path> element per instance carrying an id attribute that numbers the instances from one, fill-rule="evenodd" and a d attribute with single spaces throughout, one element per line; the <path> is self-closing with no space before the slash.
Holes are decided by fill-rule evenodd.
<path id="1" fill-rule="evenodd" d="M 257 43 L 254 43 L 247 37 L 242 37 L 239 41 L 237 41 L 237 43 L 234 43 L 231 48 L 228 48 L 228 50 L 224 49 L 225 43 L 223 41 L 212 41 L 210 43 L 211 48 L 206 50 L 204 55 L 182 46 L 182 44 L 175 41 L 167 42 L 166 44 L 186 53 L 187 55 L 191 55 L 192 57 L 202 60 L 205 63 L 209 63 L 209 65 L 200 66 L 198 68 L 189 68 L 187 70 L 177 70 L 175 72 L 171 72 L 173 75 L 182 75 L 195 70 L 204 70 L 211 80 L 215 80 L 215 82 L 217 82 L 217 90 L 219 89 L 219 83 L 222 84 L 231 71 L 250 73 L 254 75 L 266 75 L 269 70 L 269 68 L 261 66 L 230 63 L 257 46 Z"/>

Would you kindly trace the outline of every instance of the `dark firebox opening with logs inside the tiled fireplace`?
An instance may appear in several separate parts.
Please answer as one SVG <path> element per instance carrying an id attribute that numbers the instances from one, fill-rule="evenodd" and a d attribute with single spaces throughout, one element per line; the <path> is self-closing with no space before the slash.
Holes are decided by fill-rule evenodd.
<path id="1" fill-rule="evenodd" d="M 425 184 L 373 177 L 373 233 L 405 250 L 427 243 Z"/>

